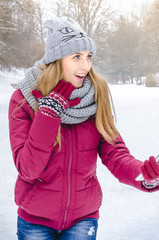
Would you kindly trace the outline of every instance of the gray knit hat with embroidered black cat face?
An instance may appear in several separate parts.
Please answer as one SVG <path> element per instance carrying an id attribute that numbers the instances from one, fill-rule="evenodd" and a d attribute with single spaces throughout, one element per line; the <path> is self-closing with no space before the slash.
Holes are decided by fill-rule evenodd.
<path id="1" fill-rule="evenodd" d="M 44 23 L 47 28 L 45 63 L 49 64 L 80 51 L 95 53 L 95 43 L 80 25 L 68 17 L 56 17 Z"/>

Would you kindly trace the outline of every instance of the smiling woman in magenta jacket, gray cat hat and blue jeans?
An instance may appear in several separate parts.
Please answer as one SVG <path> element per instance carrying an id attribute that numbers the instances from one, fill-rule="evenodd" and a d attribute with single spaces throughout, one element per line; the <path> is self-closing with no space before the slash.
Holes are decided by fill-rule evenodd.
<path id="1" fill-rule="evenodd" d="M 159 176 L 154 157 L 130 155 L 112 116 L 104 79 L 91 67 L 95 44 L 73 19 L 45 22 L 45 56 L 10 100 L 9 128 L 18 170 L 18 239 L 95 240 L 102 202 L 102 163 L 142 191 Z M 43 64 L 42 64 L 43 63 Z M 142 172 L 145 180 L 135 181 Z"/>

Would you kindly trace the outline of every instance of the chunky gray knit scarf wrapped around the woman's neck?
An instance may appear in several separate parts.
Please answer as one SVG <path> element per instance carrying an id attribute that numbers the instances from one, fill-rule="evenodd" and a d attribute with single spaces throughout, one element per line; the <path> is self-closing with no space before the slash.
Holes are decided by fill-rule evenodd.
<path id="1" fill-rule="evenodd" d="M 37 62 L 32 68 L 26 72 L 25 78 L 19 82 L 23 96 L 26 98 L 30 106 L 35 110 L 35 97 L 31 94 L 33 89 L 37 89 L 37 79 L 41 75 L 41 70 L 38 68 L 42 62 Z M 71 108 L 66 109 L 61 113 L 61 122 L 65 124 L 77 124 L 86 121 L 90 116 L 97 111 L 97 105 L 94 99 L 94 86 L 90 79 L 86 77 L 81 88 L 76 88 L 70 95 L 69 100 L 79 97 L 81 102 Z"/>

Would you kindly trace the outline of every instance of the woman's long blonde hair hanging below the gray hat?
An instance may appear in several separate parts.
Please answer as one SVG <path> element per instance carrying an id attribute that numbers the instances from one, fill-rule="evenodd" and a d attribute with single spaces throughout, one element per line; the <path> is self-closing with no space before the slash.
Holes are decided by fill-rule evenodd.
<path id="1" fill-rule="evenodd" d="M 47 96 L 63 78 L 62 61 L 57 60 L 49 65 L 41 65 L 39 68 L 42 70 L 42 75 L 38 80 L 38 88 L 43 96 Z M 113 144 L 118 136 L 118 131 L 114 124 L 112 113 L 114 107 L 108 85 L 104 78 L 96 74 L 92 68 L 88 73 L 88 77 L 92 81 L 95 89 L 95 101 L 97 103 L 96 127 L 103 138 L 110 144 Z M 38 102 L 36 103 L 35 112 L 37 112 L 37 110 Z M 59 149 L 61 148 L 60 127 L 55 144 L 59 144 Z"/>

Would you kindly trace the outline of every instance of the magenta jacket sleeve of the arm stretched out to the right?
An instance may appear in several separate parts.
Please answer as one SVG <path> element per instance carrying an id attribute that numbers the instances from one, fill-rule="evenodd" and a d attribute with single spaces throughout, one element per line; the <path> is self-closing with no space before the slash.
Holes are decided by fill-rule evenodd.
<path id="1" fill-rule="evenodd" d="M 135 178 L 141 173 L 140 169 L 143 162 L 135 159 L 130 154 L 120 135 L 113 145 L 101 138 L 99 156 L 102 163 L 119 180 L 119 182 L 128 184 L 145 192 L 153 192 L 159 189 L 159 187 L 155 189 L 146 189 L 141 181 L 135 180 Z"/>

